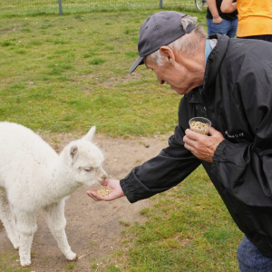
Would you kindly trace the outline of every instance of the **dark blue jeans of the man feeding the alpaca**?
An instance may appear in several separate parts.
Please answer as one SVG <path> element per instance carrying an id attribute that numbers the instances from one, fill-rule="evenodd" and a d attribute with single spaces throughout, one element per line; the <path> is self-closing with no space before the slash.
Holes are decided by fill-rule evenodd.
<path id="1" fill-rule="evenodd" d="M 272 258 L 264 257 L 244 235 L 237 249 L 240 272 L 271 272 Z"/>

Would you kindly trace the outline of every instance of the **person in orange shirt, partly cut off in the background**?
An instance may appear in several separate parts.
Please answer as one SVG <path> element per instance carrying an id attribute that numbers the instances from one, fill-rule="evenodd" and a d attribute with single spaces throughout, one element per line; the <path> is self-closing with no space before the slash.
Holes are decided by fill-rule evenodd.
<path id="1" fill-rule="evenodd" d="M 223 0 L 221 11 L 232 13 L 238 9 L 238 38 L 272 42 L 271 0 Z"/>

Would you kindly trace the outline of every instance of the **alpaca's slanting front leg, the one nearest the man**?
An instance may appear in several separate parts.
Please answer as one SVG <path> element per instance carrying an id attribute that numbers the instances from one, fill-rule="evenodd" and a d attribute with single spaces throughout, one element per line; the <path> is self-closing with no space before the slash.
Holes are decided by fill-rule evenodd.
<path id="1" fill-rule="evenodd" d="M 63 255 L 69 260 L 75 260 L 76 254 L 71 250 L 65 233 L 64 200 L 45 207 L 44 212 L 48 227 Z"/>

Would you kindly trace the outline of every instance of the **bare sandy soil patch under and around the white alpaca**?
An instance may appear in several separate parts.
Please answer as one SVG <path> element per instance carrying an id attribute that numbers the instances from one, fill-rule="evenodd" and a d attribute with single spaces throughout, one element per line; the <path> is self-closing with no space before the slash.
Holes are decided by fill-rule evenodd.
<path id="1" fill-rule="evenodd" d="M 104 170 L 110 179 L 121 180 L 132 168 L 159 154 L 168 145 L 170 135 L 155 137 L 130 137 L 126 140 L 96 134 L 94 142 L 102 149 L 105 156 Z M 63 149 L 74 138 L 71 134 L 42 135 L 57 152 Z M 100 186 L 97 187 L 97 189 Z M 121 243 L 121 230 L 127 228 L 123 223 L 142 223 L 145 217 L 139 213 L 141 209 L 151 205 L 151 200 L 143 199 L 131 204 L 128 199 L 115 199 L 111 202 L 96 202 L 86 194 L 88 188 L 80 188 L 66 200 L 65 217 L 66 233 L 70 246 L 77 254 L 73 271 L 99 271 L 106 264 L 113 264 L 111 254 L 124 247 Z M 32 246 L 32 270 L 67 271 L 68 261 L 53 239 L 44 221 L 42 211 L 37 214 L 38 229 L 34 234 Z M 5 229 L 0 221 L 0 254 L 15 256 L 15 249 L 6 237 Z M 19 267 L 19 257 L 7 258 L 9 265 Z M 92 264 L 99 264 L 91 268 Z M 114 263 L 118 266 L 118 263 Z"/>

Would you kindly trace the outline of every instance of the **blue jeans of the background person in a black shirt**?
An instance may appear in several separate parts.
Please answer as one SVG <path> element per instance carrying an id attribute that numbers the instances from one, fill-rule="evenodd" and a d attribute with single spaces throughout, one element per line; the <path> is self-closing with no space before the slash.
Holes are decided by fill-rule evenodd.
<path id="1" fill-rule="evenodd" d="M 212 23 L 211 19 L 207 19 L 207 26 L 208 26 L 208 34 L 222 34 L 228 35 L 229 38 L 235 38 L 237 33 L 237 26 L 238 26 L 238 19 L 235 21 L 228 21 L 223 19 L 220 24 Z"/>

